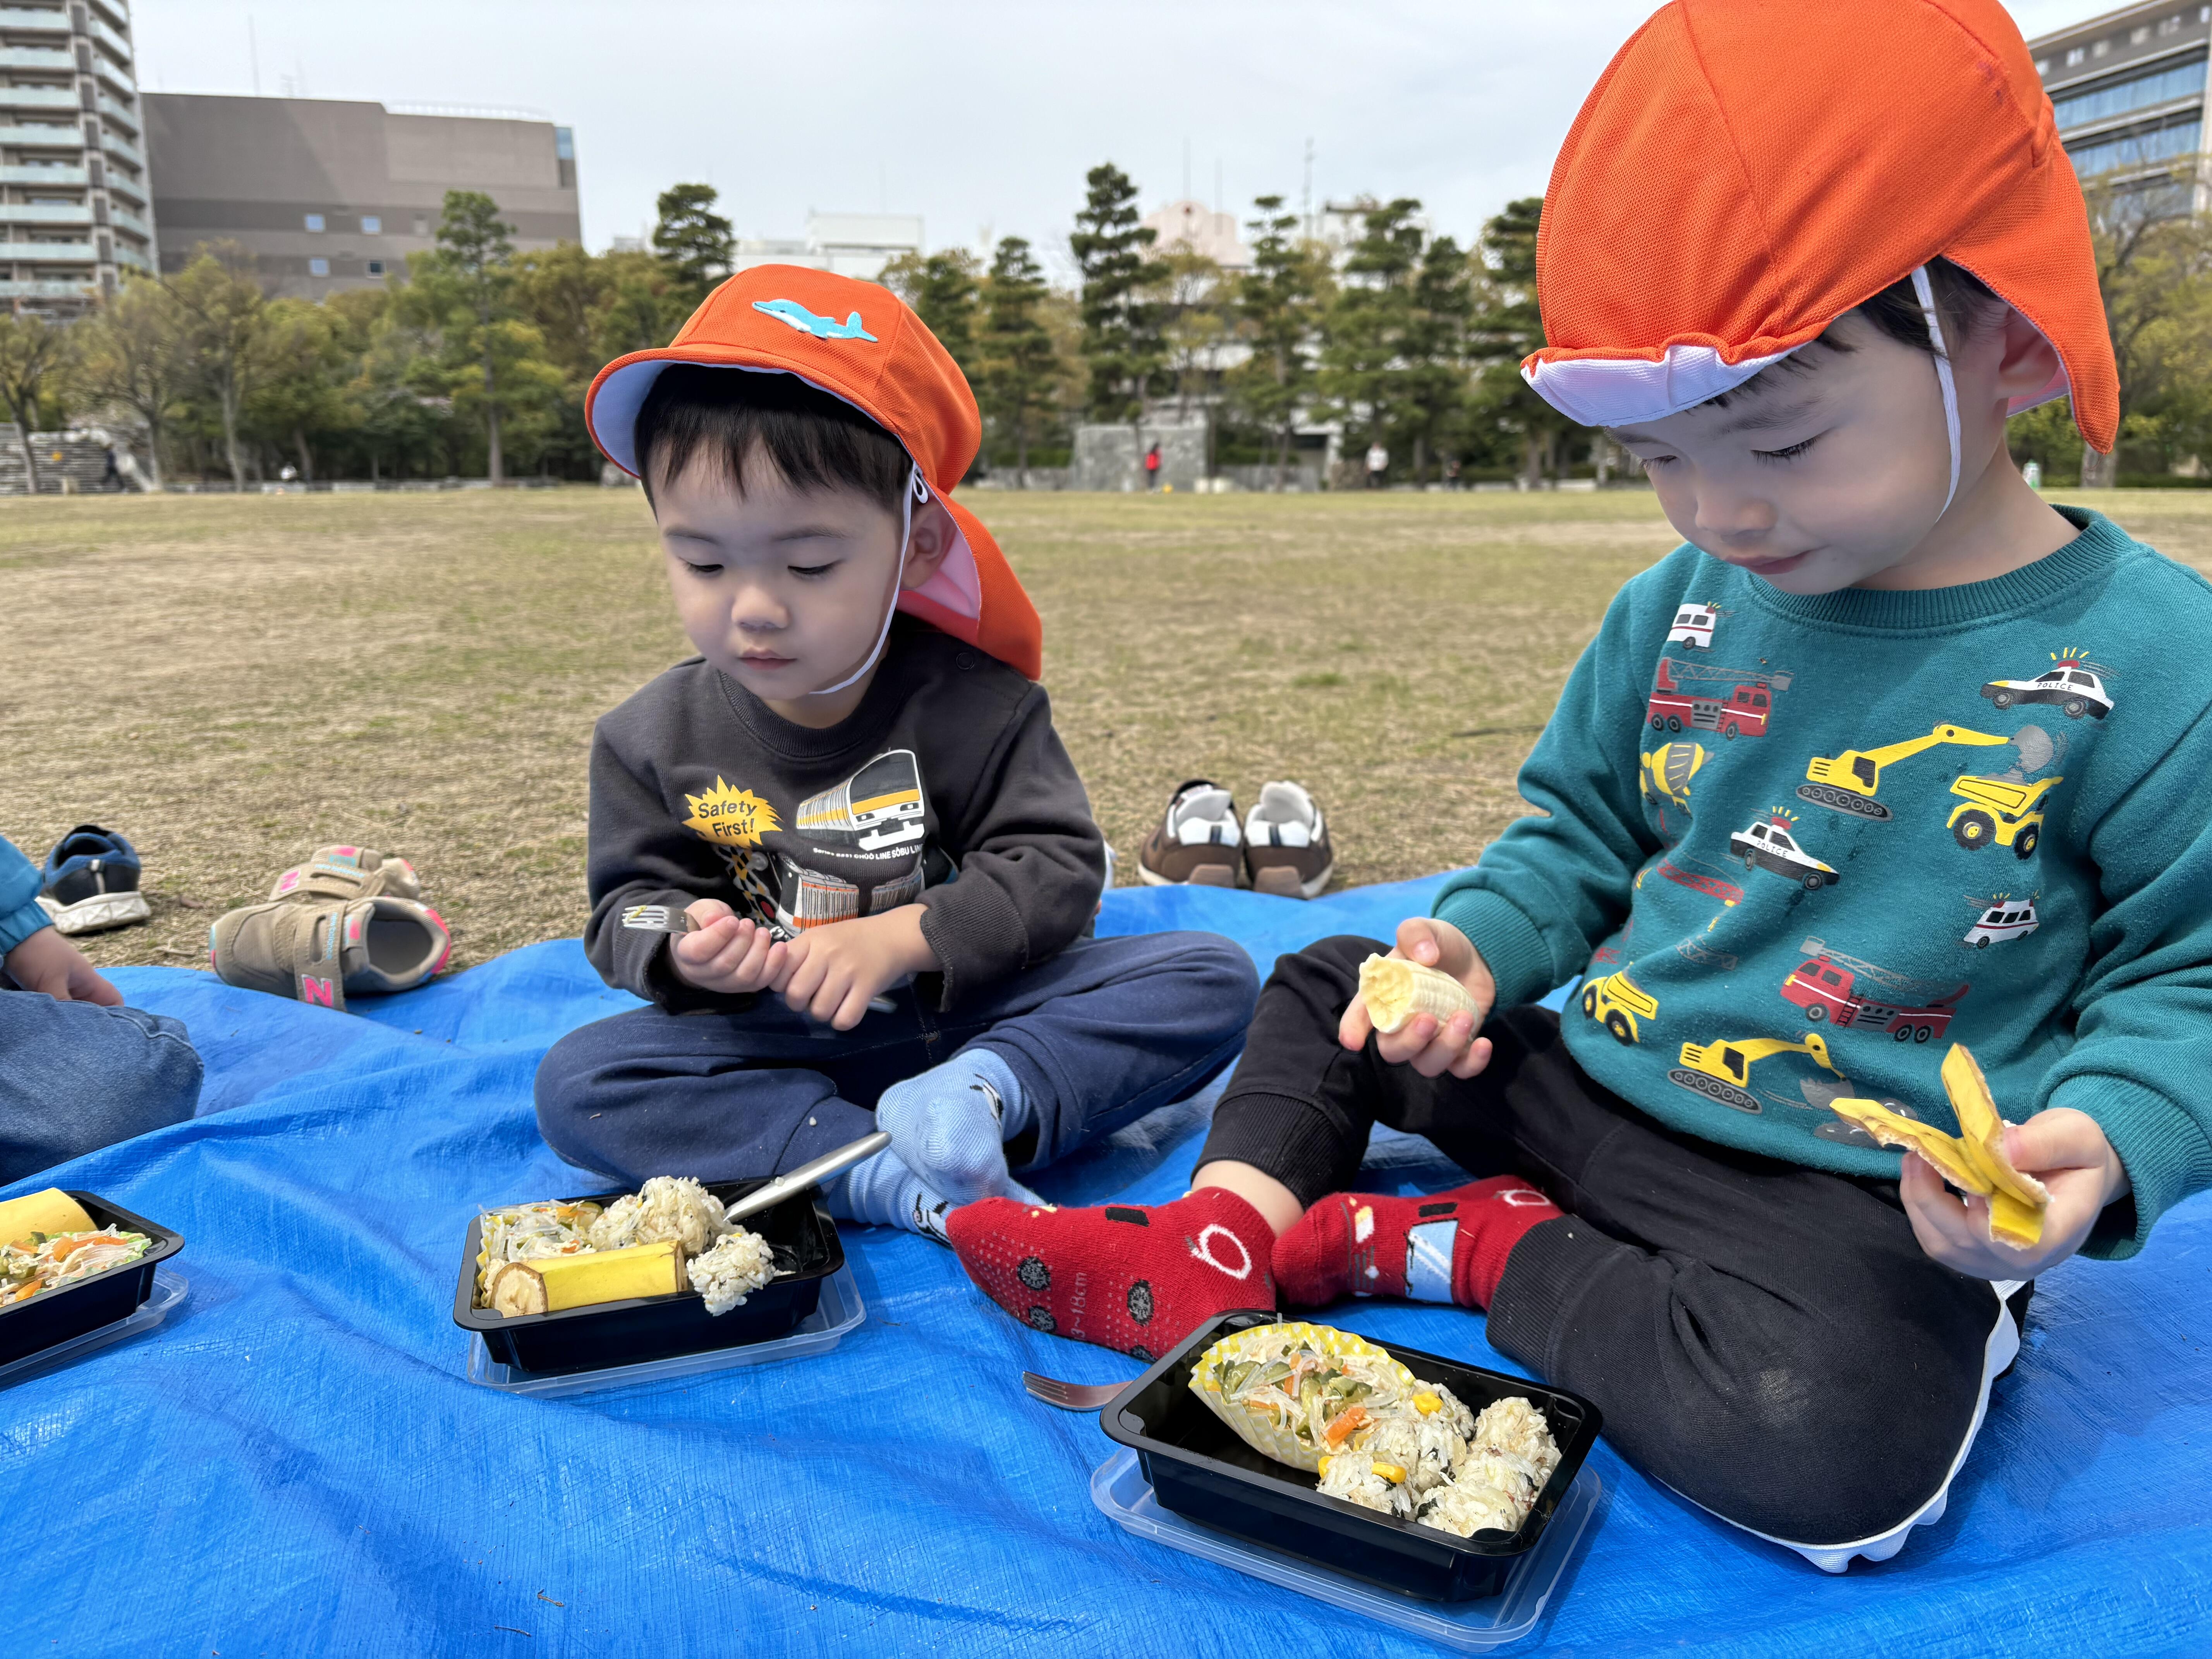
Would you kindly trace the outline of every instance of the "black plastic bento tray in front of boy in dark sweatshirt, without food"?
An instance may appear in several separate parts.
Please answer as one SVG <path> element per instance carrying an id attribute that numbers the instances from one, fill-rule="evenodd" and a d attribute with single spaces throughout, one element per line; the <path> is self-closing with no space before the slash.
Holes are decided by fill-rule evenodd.
<path id="1" fill-rule="evenodd" d="M 765 1181 L 706 1181 L 723 1203 L 745 1197 Z M 617 1192 L 584 1192 L 568 1199 L 518 1199 L 518 1203 L 613 1203 Z M 487 1210 L 511 1206 L 489 1203 Z M 761 1234 L 776 1252 L 776 1276 L 754 1290 L 723 1316 L 706 1312 L 706 1298 L 688 1285 L 666 1296 L 633 1296 L 619 1303 L 566 1307 L 557 1314 L 518 1314 L 502 1318 L 476 1305 L 476 1252 L 482 1248 L 484 1217 L 469 1221 L 469 1241 L 460 1252 L 460 1285 L 453 1290 L 453 1323 L 484 1338 L 484 1349 L 500 1365 L 518 1371 L 557 1376 L 564 1371 L 597 1371 L 606 1365 L 666 1360 L 677 1354 L 703 1354 L 710 1347 L 765 1343 L 799 1325 L 821 1301 L 823 1281 L 845 1265 L 836 1221 L 823 1203 L 821 1188 L 796 1192 L 772 1210 L 745 1217 L 743 1225 Z"/>

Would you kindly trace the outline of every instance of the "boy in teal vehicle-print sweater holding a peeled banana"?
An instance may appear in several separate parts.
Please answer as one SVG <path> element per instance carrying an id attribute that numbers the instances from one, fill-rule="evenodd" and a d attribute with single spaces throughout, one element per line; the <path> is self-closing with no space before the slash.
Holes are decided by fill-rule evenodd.
<path id="1" fill-rule="evenodd" d="M 1478 1015 L 1376 1037 L 1383 945 L 1285 958 L 1190 1197 L 1141 1234 L 987 1203 L 953 1243 L 1009 1307 L 1006 1261 L 1093 1303 L 1172 1276 L 1183 1329 L 1270 1290 L 1486 1307 L 1655 1478 L 1840 1571 L 1942 1511 L 2022 1281 L 2212 1183 L 2212 588 L 2006 456 L 2068 389 L 2108 449 L 2117 383 L 1997 0 L 1666 7 L 1559 153 L 1537 270 L 1528 380 L 1688 544 L 1568 679 L 1540 816 L 1398 929 Z M 1827 1110 L 1953 1128 L 1951 1042 L 2026 1119 L 2028 1250 Z M 1486 1179 L 1345 1192 L 1376 1121 Z"/>

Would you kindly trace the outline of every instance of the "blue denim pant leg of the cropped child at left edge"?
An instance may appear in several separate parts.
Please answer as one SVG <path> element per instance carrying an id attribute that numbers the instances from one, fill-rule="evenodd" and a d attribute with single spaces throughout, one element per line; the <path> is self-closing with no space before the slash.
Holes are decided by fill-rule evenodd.
<path id="1" fill-rule="evenodd" d="M 0 973 L 0 1186 L 199 1106 L 199 1055 L 179 1022 L 13 984 Z"/>

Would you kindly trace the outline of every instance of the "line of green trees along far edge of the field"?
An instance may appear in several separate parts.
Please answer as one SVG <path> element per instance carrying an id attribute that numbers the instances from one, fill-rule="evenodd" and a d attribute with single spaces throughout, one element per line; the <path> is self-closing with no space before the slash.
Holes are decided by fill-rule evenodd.
<path id="1" fill-rule="evenodd" d="M 2015 458 L 2053 480 L 2088 465 L 2084 482 L 2188 469 L 2212 453 L 2212 221 L 2143 212 L 2139 190 L 2093 184 L 2090 199 L 2124 456 L 2084 460 L 2059 403 L 2013 422 Z M 243 250 L 204 246 L 77 321 L 0 314 L 0 405 L 24 434 L 128 420 L 157 480 L 593 478 L 584 392 L 608 358 L 666 345 L 730 272 L 717 208 L 712 186 L 677 184 L 650 248 L 518 252 L 491 197 L 453 190 L 405 276 L 321 301 L 272 296 Z M 1066 465 L 1082 425 L 1201 422 L 1208 467 L 1259 467 L 1276 487 L 1325 425 L 1347 458 L 1383 445 L 1413 484 L 1604 476 L 1619 451 L 1520 378 L 1544 338 L 1540 212 L 1509 201 L 1462 246 L 1418 199 L 1363 199 L 1321 237 L 1263 195 L 1245 259 L 1223 268 L 1161 248 L 1137 184 L 1102 164 L 1066 241 L 1071 285 L 1022 237 L 902 254 L 883 281 L 975 387 L 980 471 Z"/>

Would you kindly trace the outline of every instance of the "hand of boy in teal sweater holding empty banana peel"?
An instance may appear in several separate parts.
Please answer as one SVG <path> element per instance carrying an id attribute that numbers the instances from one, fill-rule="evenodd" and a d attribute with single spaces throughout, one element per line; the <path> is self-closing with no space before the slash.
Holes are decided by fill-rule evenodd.
<path id="1" fill-rule="evenodd" d="M 1991 1243 L 1989 1199 L 1949 1192 L 1936 1166 L 1918 1152 L 1907 1155 L 1898 1181 L 1920 1248 L 1975 1279 L 2035 1279 L 2055 1267 L 2081 1248 L 2104 1206 L 2130 1190 L 2128 1170 L 2097 1119 L 2070 1106 L 2035 1113 L 2026 1124 L 2006 1124 L 2004 1152 L 2013 1168 L 2051 1192 L 2042 1237 L 2026 1250 Z"/>

